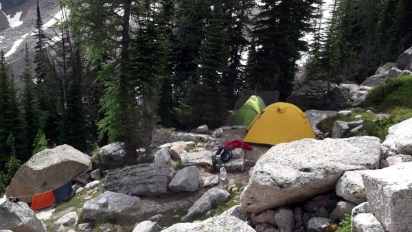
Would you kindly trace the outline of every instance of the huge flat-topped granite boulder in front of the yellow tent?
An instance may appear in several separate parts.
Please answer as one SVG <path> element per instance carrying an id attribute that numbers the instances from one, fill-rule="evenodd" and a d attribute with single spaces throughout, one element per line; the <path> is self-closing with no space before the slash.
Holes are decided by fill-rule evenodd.
<path id="1" fill-rule="evenodd" d="M 346 171 L 378 168 L 381 156 L 376 137 L 279 143 L 253 168 L 240 198 L 242 210 L 259 213 L 328 192 Z"/>

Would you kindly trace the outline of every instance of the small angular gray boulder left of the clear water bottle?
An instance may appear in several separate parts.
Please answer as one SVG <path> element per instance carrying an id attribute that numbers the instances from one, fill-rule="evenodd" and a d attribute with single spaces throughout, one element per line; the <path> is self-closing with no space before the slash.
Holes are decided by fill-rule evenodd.
<path id="1" fill-rule="evenodd" d="M 176 172 L 169 183 L 169 189 L 173 192 L 196 192 L 199 187 L 199 174 L 197 167 L 185 167 Z"/>

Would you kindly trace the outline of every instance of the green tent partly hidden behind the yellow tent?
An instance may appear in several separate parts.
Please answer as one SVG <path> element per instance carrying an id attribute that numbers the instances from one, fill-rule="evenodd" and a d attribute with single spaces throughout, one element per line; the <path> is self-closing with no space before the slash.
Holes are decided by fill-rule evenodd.
<path id="1" fill-rule="evenodd" d="M 259 115 L 265 107 L 262 98 L 252 95 L 236 112 L 234 124 L 238 126 L 249 126 L 256 115 Z"/>

